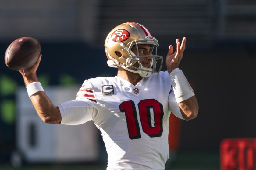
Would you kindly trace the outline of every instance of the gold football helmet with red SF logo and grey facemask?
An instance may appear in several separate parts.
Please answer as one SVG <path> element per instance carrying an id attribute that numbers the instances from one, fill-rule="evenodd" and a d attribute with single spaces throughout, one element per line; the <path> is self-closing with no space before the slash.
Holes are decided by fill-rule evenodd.
<path id="1" fill-rule="evenodd" d="M 150 44 L 151 55 L 139 56 L 139 44 Z M 134 45 L 137 48 L 137 56 L 131 51 Z M 108 66 L 120 66 L 125 70 L 138 73 L 142 77 L 149 77 L 152 73 L 159 73 L 162 67 L 163 57 L 157 55 L 156 49 L 158 46 L 158 40 L 151 36 L 151 33 L 143 25 L 135 22 L 120 24 L 109 32 L 105 40 Z M 122 54 L 121 57 L 117 56 L 117 51 Z M 152 54 L 153 52 L 155 55 Z M 140 57 L 152 57 L 151 68 L 143 67 L 140 63 Z M 158 69 L 156 69 L 157 60 L 161 60 L 161 66 Z M 139 66 L 135 67 L 135 63 L 138 63 Z M 134 68 L 135 70 L 130 68 Z"/>

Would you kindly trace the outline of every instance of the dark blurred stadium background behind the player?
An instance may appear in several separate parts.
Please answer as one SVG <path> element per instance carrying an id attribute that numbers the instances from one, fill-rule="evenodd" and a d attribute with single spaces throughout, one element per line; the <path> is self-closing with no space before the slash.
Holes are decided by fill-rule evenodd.
<path id="1" fill-rule="evenodd" d="M 19 160 L 24 161 L 20 167 L 24 170 L 106 168 L 105 145 L 96 127 L 91 122 L 77 127 L 43 124 L 20 73 L 5 66 L 4 54 L 19 37 L 39 40 L 42 61 L 37 74 L 57 105 L 74 99 L 85 79 L 116 75 L 116 69 L 106 64 L 104 41 L 123 22 L 146 26 L 158 39 L 161 56 L 170 44 L 175 46 L 176 38 L 187 37 L 180 68 L 193 86 L 200 110 L 196 119 L 180 122 L 176 159 L 166 169 L 220 169 L 223 139 L 256 137 L 255 0 L 0 0 L 0 4 L 0 169 L 13 169 L 11 162 L 18 166 Z M 70 148 L 70 142 L 77 147 Z"/>

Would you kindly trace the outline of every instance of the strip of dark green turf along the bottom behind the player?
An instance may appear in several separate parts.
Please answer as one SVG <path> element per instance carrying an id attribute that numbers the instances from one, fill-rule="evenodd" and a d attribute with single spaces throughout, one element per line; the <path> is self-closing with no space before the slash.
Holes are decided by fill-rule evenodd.
<path id="1" fill-rule="evenodd" d="M 45 164 L 24 165 L 12 168 L 10 165 L 0 165 L 0 170 L 105 170 L 107 165 L 86 164 Z M 218 151 L 180 151 L 176 160 L 166 170 L 217 170 L 219 169 Z"/>

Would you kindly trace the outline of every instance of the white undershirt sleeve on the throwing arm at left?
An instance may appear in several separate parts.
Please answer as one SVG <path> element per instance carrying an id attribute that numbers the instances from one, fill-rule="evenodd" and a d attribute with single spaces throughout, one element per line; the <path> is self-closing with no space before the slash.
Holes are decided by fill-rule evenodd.
<path id="1" fill-rule="evenodd" d="M 82 100 L 71 100 L 60 104 L 61 124 L 77 125 L 92 120 L 98 110 Z"/>

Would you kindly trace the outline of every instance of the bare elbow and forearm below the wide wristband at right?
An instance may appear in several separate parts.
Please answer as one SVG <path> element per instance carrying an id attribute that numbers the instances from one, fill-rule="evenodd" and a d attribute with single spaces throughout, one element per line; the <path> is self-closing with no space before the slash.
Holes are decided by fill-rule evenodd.
<path id="1" fill-rule="evenodd" d="M 180 106 L 181 114 L 185 120 L 190 120 L 197 117 L 199 106 L 195 96 L 192 96 L 178 104 Z"/>

